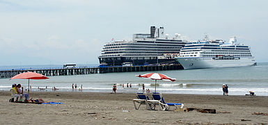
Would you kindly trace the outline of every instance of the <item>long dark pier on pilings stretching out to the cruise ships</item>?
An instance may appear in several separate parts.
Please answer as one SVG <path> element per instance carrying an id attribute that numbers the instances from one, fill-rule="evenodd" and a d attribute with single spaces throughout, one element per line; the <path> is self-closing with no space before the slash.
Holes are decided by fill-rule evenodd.
<path id="1" fill-rule="evenodd" d="M 81 74 L 104 74 L 110 72 L 152 72 L 183 69 L 181 65 L 148 65 L 133 67 L 81 67 L 72 69 L 22 69 L 0 71 L 0 78 L 11 78 L 23 72 L 36 72 L 44 76 L 67 76 Z"/>

